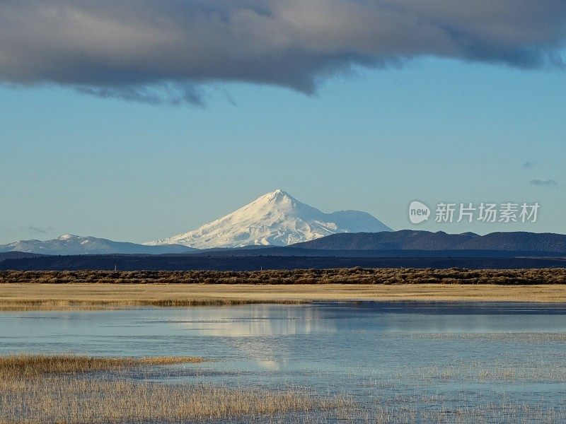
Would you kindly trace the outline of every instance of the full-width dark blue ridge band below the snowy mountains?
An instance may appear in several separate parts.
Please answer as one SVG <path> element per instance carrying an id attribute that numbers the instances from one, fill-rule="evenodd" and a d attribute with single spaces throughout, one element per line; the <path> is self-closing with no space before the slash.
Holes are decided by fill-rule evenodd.
<path id="1" fill-rule="evenodd" d="M 401 230 L 329 235 L 286 247 L 195 250 L 180 254 L 41 256 L 0 254 L 0 270 L 255 270 L 337 267 L 541 268 L 566 266 L 566 235 L 533 232 L 446 234 Z"/>

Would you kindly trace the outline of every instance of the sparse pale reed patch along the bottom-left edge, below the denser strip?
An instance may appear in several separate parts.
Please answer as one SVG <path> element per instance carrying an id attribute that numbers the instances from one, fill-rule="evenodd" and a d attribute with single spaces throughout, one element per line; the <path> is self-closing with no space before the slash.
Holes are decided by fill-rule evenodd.
<path id="1" fill-rule="evenodd" d="M 347 401 L 320 399 L 301 391 L 66 377 L 0 379 L 0 422 L 168 423 L 308 413 L 345 404 Z"/>

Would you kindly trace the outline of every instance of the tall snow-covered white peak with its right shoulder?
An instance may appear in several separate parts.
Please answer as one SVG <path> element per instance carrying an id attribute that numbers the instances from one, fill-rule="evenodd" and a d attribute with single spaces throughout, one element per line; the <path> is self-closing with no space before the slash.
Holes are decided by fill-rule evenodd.
<path id="1" fill-rule="evenodd" d="M 146 245 L 175 244 L 197 249 L 248 245 L 286 246 L 337 232 L 379 231 L 391 231 L 391 228 L 369 213 L 323 213 L 277 189 L 197 230 L 147 242 Z"/>

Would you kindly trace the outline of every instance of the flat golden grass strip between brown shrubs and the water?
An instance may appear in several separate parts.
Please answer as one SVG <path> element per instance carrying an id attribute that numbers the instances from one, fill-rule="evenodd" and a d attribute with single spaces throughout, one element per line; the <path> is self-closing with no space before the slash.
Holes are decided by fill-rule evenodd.
<path id="1" fill-rule="evenodd" d="M 533 302 L 566 305 L 566 285 L 1 283 L 0 311 L 115 310 L 311 302 Z"/>

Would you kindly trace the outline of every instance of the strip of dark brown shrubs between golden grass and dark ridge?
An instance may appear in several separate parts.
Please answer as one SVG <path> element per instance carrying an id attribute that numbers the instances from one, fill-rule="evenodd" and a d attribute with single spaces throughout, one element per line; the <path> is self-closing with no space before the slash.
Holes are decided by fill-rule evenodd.
<path id="1" fill-rule="evenodd" d="M 337 268 L 267 271 L 0 271 L 1 283 L 566 284 L 566 268 Z"/>

